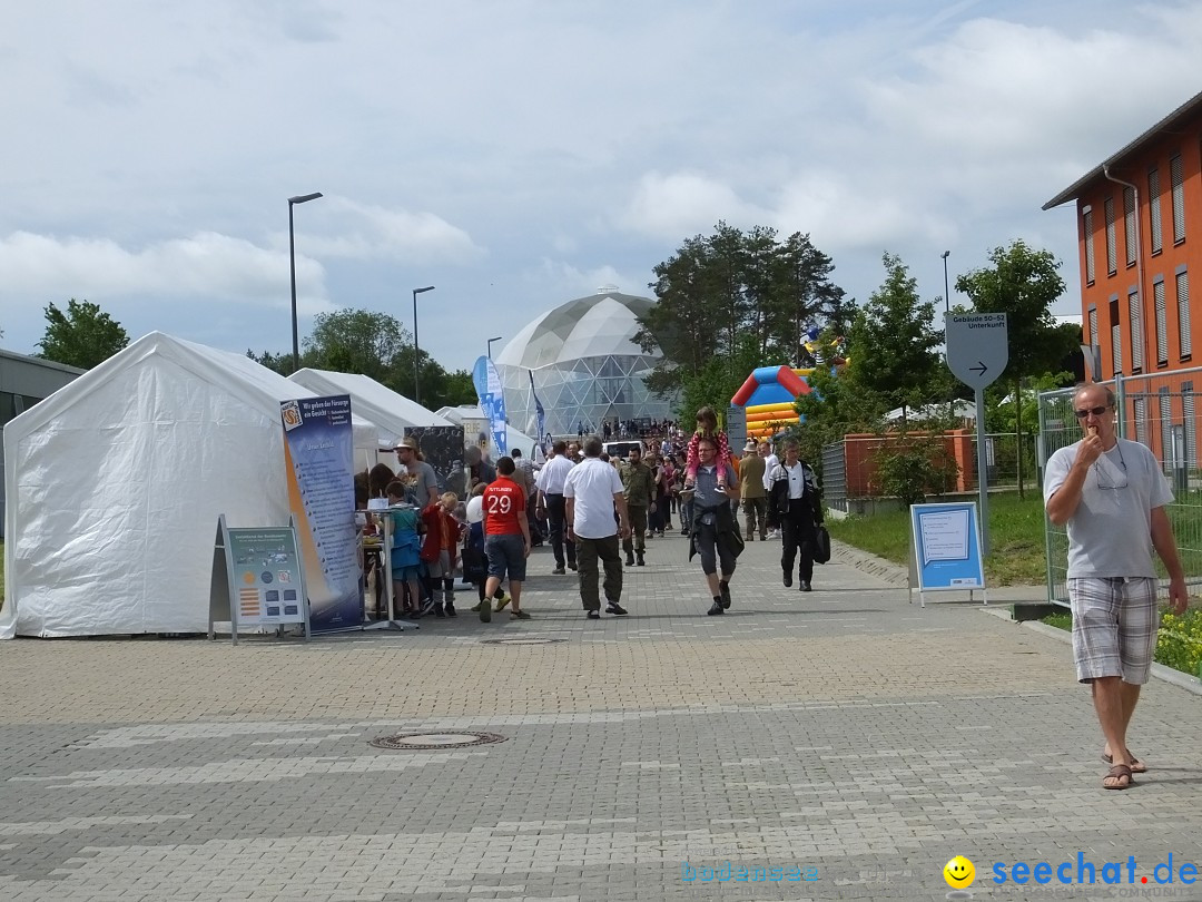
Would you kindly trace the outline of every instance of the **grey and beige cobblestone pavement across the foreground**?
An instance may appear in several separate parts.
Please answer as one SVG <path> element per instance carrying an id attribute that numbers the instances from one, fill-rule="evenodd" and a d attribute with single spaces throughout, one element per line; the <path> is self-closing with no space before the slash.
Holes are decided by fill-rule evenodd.
<path id="1" fill-rule="evenodd" d="M 845 548 L 785 589 L 762 542 L 707 617 L 685 548 L 600 622 L 540 550 L 526 622 L 4 643 L 0 900 L 941 900 L 957 854 L 975 898 L 1202 898 L 1202 698 L 1153 681 L 1105 791 L 1064 642 Z M 450 731 L 504 741 L 368 744 Z M 1091 886 L 993 883 L 1078 854 Z"/>

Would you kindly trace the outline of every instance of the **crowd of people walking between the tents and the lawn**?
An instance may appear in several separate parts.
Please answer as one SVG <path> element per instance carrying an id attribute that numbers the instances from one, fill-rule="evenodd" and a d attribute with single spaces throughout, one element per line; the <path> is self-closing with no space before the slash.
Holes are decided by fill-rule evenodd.
<path id="1" fill-rule="evenodd" d="M 529 619 L 522 584 L 531 550 L 543 542 L 554 558 L 552 575 L 575 571 L 589 619 L 600 618 L 602 594 L 606 613 L 624 616 L 624 569 L 645 566 L 648 541 L 677 524 L 689 539 L 689 559 L 700 557 L 712 597 L 708 615 L 730 609 L 737 559 L 757 536 L 780 540 L 784 586 L 793 584 L 797 564 L 799 588 L 809 592 L 822 505 L 797 443 L 784 443 L 780 456 L 767 440 L 732 449 L 713 409 L 698 410 L 696 423 L 688 438 L 674 423 L 655 423 L 656 434 L 621 458 L 605 452 L 605 431 L 553 440 L 541 465 L 517 449 L 495 465 L 469 449 L 464 500 L 440 495 L 416 440 L 403 439 L 395 447 L 399 473 L 379 464 L 357 479 L 364 503 L 389 502 L 388 569 L 401 616 L 456 617 L 454 574 L 462 566 L 478 595 L 471 610 L 482 621 L 506 607 L 511 618 Z M 618 421 L 605 426 L 611 435 L 625 432 Z"/>

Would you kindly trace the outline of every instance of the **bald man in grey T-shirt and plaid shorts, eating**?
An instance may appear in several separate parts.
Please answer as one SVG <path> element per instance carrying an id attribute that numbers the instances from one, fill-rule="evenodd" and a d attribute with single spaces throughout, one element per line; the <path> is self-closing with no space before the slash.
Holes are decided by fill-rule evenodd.
<path id="1" fill-rule="evenodd" d="M 1144 445 L 1114 434 L 1114 393 L 1084 384 L 1072 396 L 1085 438 L 1048 459 L 1048 518 L 1069 526 L 1069 600 L 1077 680 L 1090 683 L 1112 765 L 1106 789 L 1126 789 L 1148 769 L 1126 746 L 1127 725 L 1156 649 L 1156 550 L 1168 605 L 1185 611 L 1185 576 L 1165 505 L 1173 494 Z"/>

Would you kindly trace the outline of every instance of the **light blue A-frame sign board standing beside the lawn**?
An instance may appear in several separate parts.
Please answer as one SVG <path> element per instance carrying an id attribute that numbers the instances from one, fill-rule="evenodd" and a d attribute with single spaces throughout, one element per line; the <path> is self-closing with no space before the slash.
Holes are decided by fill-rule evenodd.
<path id="1" fill-rule="evenodd" d="M 981 528 L 975 502 L 910 506 L 920 592 L 984 588 Z"/>

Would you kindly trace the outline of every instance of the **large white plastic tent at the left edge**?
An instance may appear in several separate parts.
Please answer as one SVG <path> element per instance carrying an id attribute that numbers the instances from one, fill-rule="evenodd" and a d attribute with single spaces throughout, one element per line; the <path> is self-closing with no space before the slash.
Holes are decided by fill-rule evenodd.
<path id="1" fill-rule="evenodd" d="M 288 522 L 279 405 L 314 394 L 153 332 L 10 421 L 0 639 L 207 629 L 218 515 Z"/>

